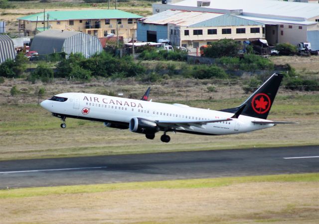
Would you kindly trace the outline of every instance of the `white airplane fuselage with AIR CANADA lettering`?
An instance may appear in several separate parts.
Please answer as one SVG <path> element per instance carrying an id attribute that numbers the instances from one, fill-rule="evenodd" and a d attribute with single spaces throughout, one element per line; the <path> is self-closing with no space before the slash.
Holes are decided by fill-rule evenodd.
<path id="1" fill-rule="evenodd" d="M 227 119 L 232 113 L 188 107 L 181 104 L 165 104 L 114 96 L 89 93 L 62 93 L 56 97 L 65 101 L 44 100 L 41 106 L 57 117 L 96 120 L 129 126 L 132 118 L 150 121 L 174 122 L 162 124 L 160 131 L 186 132 L 200 135 L 230 135 L 273 127 L 274 124 L 255 124 L 252 121 L 267 121 L 240 115 L 228 121 L 207 122 Z M 189 121 L 191 125 L 184 124 Z M 178 122 L 183 122 L 179 124 Z M 196 122 L 201 122 L 196 124 Z"/>

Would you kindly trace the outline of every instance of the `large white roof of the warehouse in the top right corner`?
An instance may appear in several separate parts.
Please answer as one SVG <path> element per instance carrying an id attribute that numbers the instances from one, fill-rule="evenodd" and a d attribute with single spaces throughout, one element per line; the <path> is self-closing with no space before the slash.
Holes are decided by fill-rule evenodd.
<path id="1" fill-rule="evenodd" d="M 183 0 L 173 5 L 197 7 L 197 0 Z M 291 17 L 295 20 L 305 20 L 319 15 L 319 4 L 274 0 L 211 0 L 211 9 L 242 9 L 243 15 L 256 17 Z M 195 9 L 192 9 L 195 10 Z"/>

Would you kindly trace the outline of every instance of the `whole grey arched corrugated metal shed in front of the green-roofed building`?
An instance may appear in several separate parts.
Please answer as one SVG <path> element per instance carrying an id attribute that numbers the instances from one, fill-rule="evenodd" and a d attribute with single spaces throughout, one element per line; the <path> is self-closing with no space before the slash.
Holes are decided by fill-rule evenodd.
<path id="1" fill-rule="evenodd" d="M 101 42 L 96 36 L 58 29 L 49 29 L 36 34 L 30 47 L 30 51 L 37 51 L 38 54 L 82 53 L 86 58 L 102 50 Z"/>

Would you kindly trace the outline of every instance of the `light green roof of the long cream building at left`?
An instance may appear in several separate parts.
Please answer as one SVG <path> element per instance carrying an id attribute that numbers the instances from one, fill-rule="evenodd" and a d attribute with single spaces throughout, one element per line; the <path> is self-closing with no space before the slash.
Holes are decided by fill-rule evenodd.
<path id="1" fill-rule="evenodd" d="M 105 18 L 143 18 L 141 15 L 118 9 L 98 9 L 98 10 L 74 10 L 74 11 L 47 11 L 45 20 L 73 20 L 73 19 L 105 19 Z M 37 19 L 38 18 L 38 19 Z M 43 12 L 19 17 L 18 20 L 43 21 Z"/>

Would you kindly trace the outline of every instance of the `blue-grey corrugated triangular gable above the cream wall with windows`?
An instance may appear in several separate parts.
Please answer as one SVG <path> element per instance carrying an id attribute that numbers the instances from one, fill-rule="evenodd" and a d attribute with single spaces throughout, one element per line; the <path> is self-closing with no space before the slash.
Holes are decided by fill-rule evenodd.
<path id="1" fill-rule="evenodd" d="M 241 25 L 264 25 L 261 22 L 256 22 L 246 18 L 241 18 L 235 15 L 223 14 L 206 21 L 198 22 L 188 27 L 214 27 L 214 26 L 241 26 Z"/>

